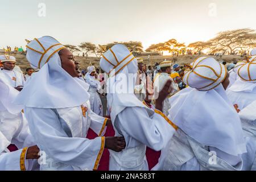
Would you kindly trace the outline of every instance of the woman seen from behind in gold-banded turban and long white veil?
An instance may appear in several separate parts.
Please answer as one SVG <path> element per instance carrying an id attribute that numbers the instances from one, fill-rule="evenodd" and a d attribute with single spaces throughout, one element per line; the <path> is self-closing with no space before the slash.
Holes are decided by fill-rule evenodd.
<path id="1" fill-rule="evenodd" d="M 224 65 L 200 57 L 184 75 L 188 88 L 170 98 L 170 118 L 179 130 L 154 169 L 241 170 L 246 152 L 240 118 L 228 100 Z"/>

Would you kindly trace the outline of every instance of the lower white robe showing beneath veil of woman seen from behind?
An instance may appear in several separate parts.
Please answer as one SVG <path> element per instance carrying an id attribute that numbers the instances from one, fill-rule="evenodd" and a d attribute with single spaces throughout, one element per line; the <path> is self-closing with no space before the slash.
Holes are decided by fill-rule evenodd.
<path id="1" fill-rule="evenodd" d="M 197 143 L 197 142 L 196 142 Z M 226 154 L 225 152 L 218 150 L 216 147 L 204 146 L 208 148 L 207 161 L 205 161 L 205 155 L 201 152 L 202 149 L 199 145 L 196 147 L 200 150 L 195 150 L 191 148 L 191 143 L 188 141 L 187 135 L 182 130 L 177 130 L 174 137 L 170 140 L 166 148 L 162 151 L 162 154 L 159 158 L 159 163 L 156 164 L 153 171 L 205 171 L 205 170 L 242 170 L 242 155 L 232 156 Z M 182 152 L 181 152 L 182 151 Z M 205 150 L 206 151 L 206 150 Z M 223 166 L 218 164 L 210 164 L 210 151 L 214 151 L 216 158 L 221 161 Z M 198 159 L 197 155 L 201 155 L 201 158 Z M 209 168 L 206 168 L 202 163 L 208 163 Z M 225 164 L 224 164 L 225 163 Z"/>

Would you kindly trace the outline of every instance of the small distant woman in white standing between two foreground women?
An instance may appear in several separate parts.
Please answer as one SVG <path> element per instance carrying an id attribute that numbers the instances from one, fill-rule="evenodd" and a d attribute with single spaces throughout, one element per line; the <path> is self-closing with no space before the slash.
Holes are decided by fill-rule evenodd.
<path id="1" fill-rule="evenodd" d="M 98 115 L 103 115 L 103 107 L 101 98 L 97 93 L 97 90 L 100 89 L 100 81 L 96 80 L 95 78 L 95 67 L 88 67 L 87 73 L 85 75 L 85 81 L 87 84 L 90 85 L 89 87 L 89 94 L 90 94 L 90 108 L 93 110 L 94 113 Z"/>

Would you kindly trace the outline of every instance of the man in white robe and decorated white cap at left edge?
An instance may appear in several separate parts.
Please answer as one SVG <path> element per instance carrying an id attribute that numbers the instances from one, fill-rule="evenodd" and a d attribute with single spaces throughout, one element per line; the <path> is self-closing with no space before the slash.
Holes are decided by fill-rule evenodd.
<path id="1" fill-rule="evenodd" d="M 17 90 L 22 90 L 24 86 L 24 76 L 22 73 L 15 71 L 16 59 L 14 56 L 1 55 L 0 61 L 3 68 L 0 70 L 0 78 Z"/>

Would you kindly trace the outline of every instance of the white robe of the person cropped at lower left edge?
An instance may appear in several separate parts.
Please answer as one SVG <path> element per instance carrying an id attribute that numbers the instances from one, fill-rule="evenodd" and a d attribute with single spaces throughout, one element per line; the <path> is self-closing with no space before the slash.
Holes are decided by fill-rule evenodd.
<path id="1" fill-rule="evenodd" d="M 11 114 L 7 110 L 0 111 L 0 134 L 0 138 L 7 142 L 5 146 L 0 144 L 0 171 L 20 171 L 20 155 L 23 148 L 35 145 L 24 115 Z M 15 144 L 19 150 L 10 152 L 6 148 L 9 144 Z M 39 169 L 36 159 L 26 159 L 24 165 L 27 171 Z"/>

